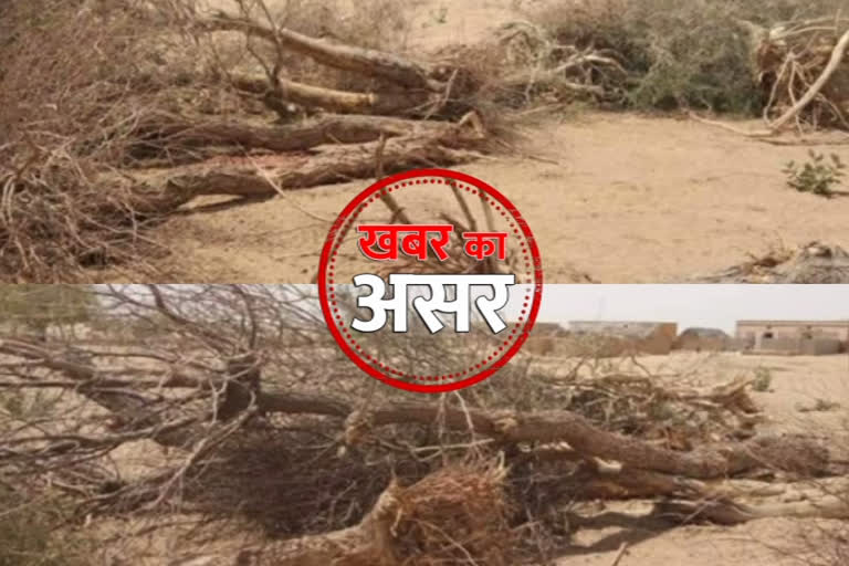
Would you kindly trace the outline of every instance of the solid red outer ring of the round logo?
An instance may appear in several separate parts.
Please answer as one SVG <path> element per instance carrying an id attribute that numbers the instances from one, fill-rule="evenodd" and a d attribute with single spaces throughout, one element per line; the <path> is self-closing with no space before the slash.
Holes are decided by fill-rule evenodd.
<path id="1" fill-rule="evenodd" d="M 533 302 L 531 304 L 531 311 L 527 315 L 527 319 L 524 326 L 522 327 L 522 333 L 520 333 L 515 343 L 513 343 L 513 345 L 486 369 L 480 371 L 479 374 L 474 374 L 468 378 L 464 378 L 458 381 L 452 381 L 450 384 L 442 384 L 442 385 L 420 385 L 420 384 L 403 381 L 381 373 L 378 368 L 374 367 L 373 365 L 368 364 L 366 360 L 360 358 L 357 355 L 357 353 L 354 352 L 354 349 L 352 349 L 350 346 L 348 346 L 342 333 L 336 327 L 336 324 L 334 323 L 334 319 L 333 319 L 333 313 L 331 312 L 331 305 L 327 296 L 327 264 L 331 259 L 333 245 L 336 241 L 336 234 L 339 232 L 339 229 L 342 228 L 342 226 L 345 223 L 348 217 L 350 217 L 352 213 L 354 213 L 357 207 L 359 207 L 363 202 L 365 202 L 369 197 L 374 196 L 376 192 L 379 192 L 385 187 L 392 185 L 395 182 L 403 181 L 408 179 L 415 179 L 417 177 L 442 177 L 442 178 L 454 179 L 461 182 L 472 185 L 478 189 L 486 192 L 493 199 L 497 200 L 501 203 L 501 206 L 503 206 L 505 210 L 513 216 L 514 220 L 516 221 L 516 224 L 522 230 L 522 233 L 524 234 L 525 240 L 527 241 L 527 245 L 531 250 L 531 256 L 534 262 Z M 327 327 L 329 328 L 331 334 L 333 334 L 334 339 L 339 345 L 339 347 L 345 353 L 345 355 L 348 356 L 348 358 L 350 358 L 350 360 L 354 361 L 366 374 L 368 374 L 369 376 L 376 379 L 379 379 L 380 381 L 384 381 L 387 385 L 390 385 L 399 389 L 405 389 L 407 391 L 417 391 L 417 392 L 426 392 L 426 394 L 454 391 L 457 389 L 470 387 L 474 384 L 483 381 L 488 377 L 495 374 L 499 369 L 501 369 L 507 361 L 510 361 L 510 359 L 513 356 L 516 355 L 516 353 L 518 353 L 520 348 L 527 339 L 527 336 L 536 321 L 536 315 L 539 312 L 539 305 L 543 298 L 543 266 L 542 266 L 542 259 L 539 256 L 539 249 L 536 245 L 536 240 L 534 239 L 534 234 L 531 232 L 531 229 L 528 228 L 527 222 L 525 222 L 525 220 L 522 218 L 522 214 L 518 212 L 518 209 L 516 209 L 516 207 L 510 200 L 507 200 L 507 198 L 504 195 L 495 190 L 495 188 L 491 187 L 486 182 L 480 179 L 476 179 L 470 175 L 465 175 L 459 171 L 452 171 L 449 169 L 413 169 L 411 171 L 407 171 L 398 175 L 391 175 L 389 177 L 386 177 L 377 181 L 376 184 L 371 185 L 366 190 L 357 195 L 357 197 L 355 197 L 354 200 L 352 200 L 348 203 L 348 206 L 345 207 L 345 209 L 339 213 L 339 216 L 336 218 L 336 221 L 333 223 L 333 227 L 331 227 L 331 231 L 328 232 L 327 239 L 325 240 L 324 249 L 322 250 L 322 256 L 318 262 L 318 280 L 317 281 L 318 281 L 318 298 L 322 305 L 322 313 L 324 314 L 324 318 L 327 323 Z"/>

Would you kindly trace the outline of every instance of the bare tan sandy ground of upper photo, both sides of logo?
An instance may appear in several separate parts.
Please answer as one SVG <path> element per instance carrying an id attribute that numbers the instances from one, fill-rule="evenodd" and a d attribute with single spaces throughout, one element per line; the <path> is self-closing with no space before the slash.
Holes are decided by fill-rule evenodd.
<path id="1" fill-rule="evenodd" d="M 494 186 L 527 220 L 546 281 L 674 283 L 782 244 L 849 245 L 849 199 L 784 186 L 807 147 L 773 146 L 669 117 L 591 114 L 530 134 L 527 158 L 459 168 Z M 826 148 L 827 149 L 827 148 Z M 849 157 L 846 150 L 841 151 Z M 369 181 L 172 220 L 166 265 L 178 280 L 310 283 L 332 220 Z"/>

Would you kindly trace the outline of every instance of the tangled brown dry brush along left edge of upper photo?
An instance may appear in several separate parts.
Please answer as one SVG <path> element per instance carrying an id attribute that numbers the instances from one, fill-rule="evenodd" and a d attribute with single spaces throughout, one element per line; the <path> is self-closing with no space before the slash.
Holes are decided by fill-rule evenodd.
<path id="1" fill-rule="evenodd" d="M 6 15 L 0 280 L 74 280 L 151 250 L 133 181 L 103 177 L 165 86 L 149 45 L 167 41 L 132 8 L 39 0 Z"/>

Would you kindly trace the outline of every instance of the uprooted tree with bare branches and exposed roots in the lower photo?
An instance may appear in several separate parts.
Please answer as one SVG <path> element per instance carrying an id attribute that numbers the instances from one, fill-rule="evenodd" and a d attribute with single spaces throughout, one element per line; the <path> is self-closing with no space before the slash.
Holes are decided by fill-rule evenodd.
<path id="1" fill-rule="evenodd" d="M 243 515 L 282 538 L 260 563 L 395 565 L 514 564 L 532 552 L 522 525 L 581 499 L 726 524 L 849 515 L 840 491 L 771 501 L 840 470 L 811 438 L 759 434 L 746 377 L 670 385 L 578 360 L 554 378 L 518 359 L 411 400 L 339 356 L 305 287 L 90 292 L 99 314 L 74 338 L 0 340 L 3 476 L 81 517 Z M 106 465 L 138 442 L 168 455 L 135 475 Z"/>

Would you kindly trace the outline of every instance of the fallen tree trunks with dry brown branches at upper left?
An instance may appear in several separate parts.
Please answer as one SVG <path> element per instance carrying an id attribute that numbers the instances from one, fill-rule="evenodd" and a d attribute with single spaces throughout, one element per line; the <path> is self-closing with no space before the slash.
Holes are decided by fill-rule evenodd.
<path id="1" fill-rule="evenodd" d="M 21 32 L 3 48 L 2 106 L 17 108 L 0 114 L 6 280 L 87 279 L 88 266 L 160 253 L 150 229 L 198 196 L 273 197 L 378 170 L 467 163 L 495 147 L 497 134 L 472 103 L 476 83 L 459 69 L 311 38 L 239 2 L 242 13 L 227 15 L 201 14 L 190 1 L 127 10 L 123 0 L 111 0 L 114 10 L 40 1 L 34 10 L 54 17 L 49 45 L 30 49 L 21 7 L 10 15 Z M 268 49 L 242 45 L 255 64 L 231 69 L 219 56 L 224 32 Z M 63 77 L 48 64 L 67 60 L 64 72 L 91 51 L 97 64 L 77 74 Z M 329 78 L 287 76 L 283 62 L 304 56 Z M 371 82 L 354 92 L 333 84 L 336 72 Z M 73 112 L 44 116 L 60 106 Z M 297 119 L 305 115 L 313 119 Z"/>

